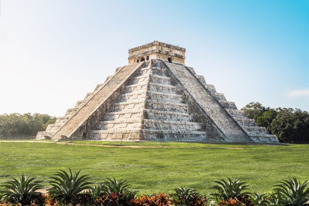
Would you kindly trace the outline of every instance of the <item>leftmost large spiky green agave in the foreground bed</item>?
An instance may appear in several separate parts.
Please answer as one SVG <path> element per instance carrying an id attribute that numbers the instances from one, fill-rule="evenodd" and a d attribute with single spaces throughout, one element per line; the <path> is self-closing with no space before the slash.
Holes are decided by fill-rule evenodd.
<path id="1" fill-rule="evenodd" d="M 25 175 L 19 177 L 19 180 L 13 178 L 2 185 L 6 190 L 2 191 L 7 201 L 18 202 L 21 204 L 31 204 L 30 202 L 39 197 L 36 190 L 42 189 L 41 181 L 35 181 L 36 177 L 27 178 Z"/>

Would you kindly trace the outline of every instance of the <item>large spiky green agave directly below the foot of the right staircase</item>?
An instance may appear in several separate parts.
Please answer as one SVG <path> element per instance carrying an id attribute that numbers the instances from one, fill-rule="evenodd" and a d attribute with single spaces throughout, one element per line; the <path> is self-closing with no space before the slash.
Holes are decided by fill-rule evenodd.
<path id="1" fill-rule="evenodd" d="M 225 181 L 224 179 L 220 179 L 220 181 L 214 181 L 215 183 L 218 183 L 219 185 L 215 185 L 213 187 L 210 187 L 212 189 L 216 189 L 217 192 L 213 193 L 212 195 L 218 196 L 222 199 L 230 199 L 230 198 L 240 198 L 242 196 L 246 196 L 251 194 L 250 192 L 244 192 L 244 190 L 248 190 L 248 186 L 246 185 L 247 182 L 241 182 L 238 179 L 235 181 L 232 181 L 230 178 L 228 178 L 228 181 Z"/>

